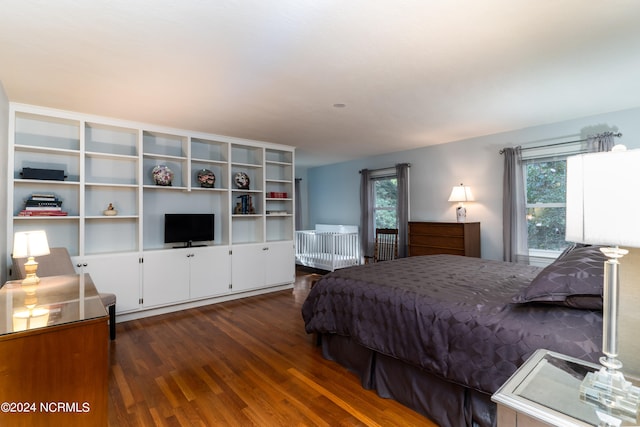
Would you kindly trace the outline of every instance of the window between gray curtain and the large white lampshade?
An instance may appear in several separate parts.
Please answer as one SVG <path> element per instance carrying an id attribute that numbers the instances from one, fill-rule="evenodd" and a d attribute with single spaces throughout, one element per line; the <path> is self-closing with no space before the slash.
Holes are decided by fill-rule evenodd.
<path id="1" fill-rule="evenodd" d="M 567 246 L 566 157 L 530 159 L 524 166 L 529 253 L 562 251 Z"/>

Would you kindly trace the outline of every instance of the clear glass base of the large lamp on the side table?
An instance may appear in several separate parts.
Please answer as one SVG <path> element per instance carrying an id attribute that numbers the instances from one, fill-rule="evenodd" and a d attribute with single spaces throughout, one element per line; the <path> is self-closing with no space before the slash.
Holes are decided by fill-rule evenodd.
<path id="1" fill-rule="evenodd" d="M 620 371 L 603 367 L 589 372 L 580 385 L 580 399 L 627 421 L 638 419 L 640 387 L 625 380 Z"/>

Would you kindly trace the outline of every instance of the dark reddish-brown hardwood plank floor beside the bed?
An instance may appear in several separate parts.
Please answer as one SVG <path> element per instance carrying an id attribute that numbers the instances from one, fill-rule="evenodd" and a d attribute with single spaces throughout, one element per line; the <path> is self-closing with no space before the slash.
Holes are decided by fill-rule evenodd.
<path id="1" fill-rule="evenodd" d="M 434 426 L 322 358 L 293 290 L 119 323 L 109 426 Z"/>

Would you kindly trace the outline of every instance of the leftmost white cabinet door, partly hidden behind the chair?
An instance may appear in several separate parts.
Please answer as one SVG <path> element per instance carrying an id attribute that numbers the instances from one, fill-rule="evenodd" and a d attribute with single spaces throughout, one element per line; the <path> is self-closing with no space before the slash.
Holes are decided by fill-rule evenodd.
<path id="1" fill-rule="evenodd" d="M 75 257 L 73 264 L 79 274 L 91 275 L 98 292 L 116 294 L 116 313 L 140 308 L 138 253 Z"/>

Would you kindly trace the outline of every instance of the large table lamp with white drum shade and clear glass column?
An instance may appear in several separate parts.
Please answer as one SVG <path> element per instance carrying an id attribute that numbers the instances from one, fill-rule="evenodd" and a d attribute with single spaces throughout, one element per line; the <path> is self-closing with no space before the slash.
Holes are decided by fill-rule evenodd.
<path id="1" fill-rule="evenodd" d="M 608 412 L 636 421 L 640 388 L 625 380 L 618 357 L 618 267 L 628 253 L 620 246 L 640 247 L 638 184 L 640 150 L 614 150 L 567 158 L 566 239 L 608 245 L 603 283 L 602 368 L 589 373 L 580 397 Z"/>

